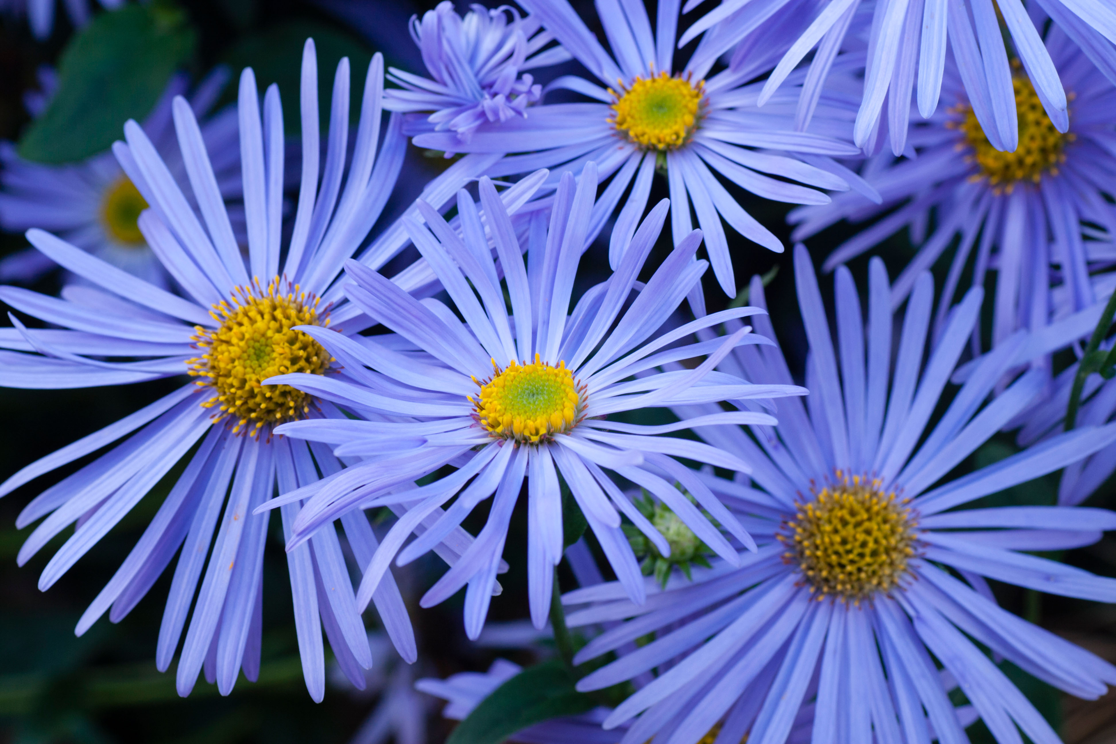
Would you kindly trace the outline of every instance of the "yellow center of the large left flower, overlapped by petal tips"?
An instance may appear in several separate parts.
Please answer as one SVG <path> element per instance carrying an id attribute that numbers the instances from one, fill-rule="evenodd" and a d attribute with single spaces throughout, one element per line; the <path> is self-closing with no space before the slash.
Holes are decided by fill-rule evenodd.
<path id="1" fill-rule="evenodd" d="M 310 396 L 290 385 L 261 385 L 261 380 L 288 373 L 323 375 L 333 361 L 329 354 L 295 326 L 328 326 L 328 310 L 318 318 L 318 298 L 287 282 L 272 279 L 267 291 L 259 280 L 232 292 L 232 302 L 214 305 L 210 312 L 221 323 L 196 326 L 193 337 L 204 354 L 190 359 L 189 373 L 205 380 L 198 385 L 217 388 L 204 406 L 220 406 L 217 418 L 237 419 L 233 432 L 258 436 L 268 424 L 281 424 L 309 410 Z"/>

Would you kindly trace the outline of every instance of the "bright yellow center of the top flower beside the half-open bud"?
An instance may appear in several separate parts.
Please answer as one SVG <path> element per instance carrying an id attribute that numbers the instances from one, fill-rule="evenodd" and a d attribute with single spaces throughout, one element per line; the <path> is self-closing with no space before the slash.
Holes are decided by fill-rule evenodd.
<path id="1" fill-rule="evenodd" d="M 661 73 L 637 77 L 628 88 L 609 93 L 616 98 L 608 119 L 617 132 L 644 149 L 676 149 L 690 139 L 698 124 L 704 83 L 695 87 L 683 77 Z"/>

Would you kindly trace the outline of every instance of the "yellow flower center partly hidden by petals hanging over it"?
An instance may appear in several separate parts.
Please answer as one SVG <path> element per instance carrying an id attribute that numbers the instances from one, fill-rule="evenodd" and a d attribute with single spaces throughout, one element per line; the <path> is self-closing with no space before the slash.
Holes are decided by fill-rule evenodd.
<path id="1" fill-rule="evenodd" d="M 1066 161 L 1062 152 L 1066 143 L 1075 138 L 1070 133 L 1058 132 L 1050 123 L 1026 75 L 1017 73 L 1012 85 L 1019 117 L 1019 146 L 1014 152 L 1003 153 L 992 146 L 971 106 L 956 112 L 964 114 L 962 122 L 951 122 L 953 128 L 964 132 L 965 142 L 973 149 L 970 158 L 980 166 L 980 174 L 974 174 L 972 180 L 988 178 L 997 194 L 1001 190 L 1010 194 L 1019 182 L 1038 183 L 1043 173 L 1058 175 L 1058 165 Z"/>

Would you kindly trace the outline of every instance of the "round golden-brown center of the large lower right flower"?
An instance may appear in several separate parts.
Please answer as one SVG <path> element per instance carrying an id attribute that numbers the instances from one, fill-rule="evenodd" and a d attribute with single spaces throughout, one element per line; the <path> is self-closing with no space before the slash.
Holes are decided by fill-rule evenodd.
<path id="1" fill-rule="evenodd" d="M 898 586 L 915 554 L 915 525 L 907 502 L 879 481 L 838 471 L 835 485 L 798 504 L 779 540 L 818 600 L 859 603 Z"/>

